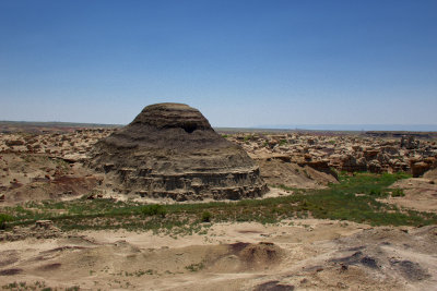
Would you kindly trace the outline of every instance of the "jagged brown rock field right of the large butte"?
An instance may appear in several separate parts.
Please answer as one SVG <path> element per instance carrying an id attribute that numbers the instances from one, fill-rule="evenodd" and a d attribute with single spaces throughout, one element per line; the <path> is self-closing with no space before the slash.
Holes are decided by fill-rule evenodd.
<path id="1" fill-rule="evenodd" d="M 436 142 L 425 138 L 430 134 L 422 136 L 402 132 L 385 138 L 369 138 L 363 134 L 293 131 L 283 134 L 226 132 L 227 138 L 239 144 L 252 158 L 281 157 L 284 161 L 329 174 L 334 174 L 332 169 L 335 169 L 346 172 L 409 172 L 417 177 L 426 169 L 437 167 Z M 424 163 L 415 166 L 416 162 Z"/>

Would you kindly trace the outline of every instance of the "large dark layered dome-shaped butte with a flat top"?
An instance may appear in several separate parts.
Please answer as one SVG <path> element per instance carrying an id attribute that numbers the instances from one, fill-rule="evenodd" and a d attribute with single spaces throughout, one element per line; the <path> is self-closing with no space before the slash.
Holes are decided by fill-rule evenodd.
<path id="1" fill-rule="evenodd" d="M 126 193 L 186 199 L 240 199 L 268 191 L 259 167 L 182 104 L 145 107 L 127 126 L 99 141 L 91 166 Z"/>

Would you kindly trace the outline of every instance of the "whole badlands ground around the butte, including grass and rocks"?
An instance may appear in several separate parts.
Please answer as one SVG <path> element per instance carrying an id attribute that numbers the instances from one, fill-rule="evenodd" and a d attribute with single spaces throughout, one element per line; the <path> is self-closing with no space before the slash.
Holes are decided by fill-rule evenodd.
<path id="1" fill-rule="evenodd" d="M 437 290 L 434 133 L 222 130 L 268 192 L 175 202 L 91 167 L 120 129 L 1 125 L 4 290 Z"/>

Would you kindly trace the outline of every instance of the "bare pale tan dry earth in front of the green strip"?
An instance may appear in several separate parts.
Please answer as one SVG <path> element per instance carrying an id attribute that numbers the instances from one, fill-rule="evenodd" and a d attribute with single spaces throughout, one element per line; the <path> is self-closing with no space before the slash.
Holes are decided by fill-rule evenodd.
<path id="1" fill-rule="evenodd" d="M 84 290 L 435 290 L 437 227 L 317 219 L 205 234 L 60 233 L 0 245 L 0 282 Z"/>

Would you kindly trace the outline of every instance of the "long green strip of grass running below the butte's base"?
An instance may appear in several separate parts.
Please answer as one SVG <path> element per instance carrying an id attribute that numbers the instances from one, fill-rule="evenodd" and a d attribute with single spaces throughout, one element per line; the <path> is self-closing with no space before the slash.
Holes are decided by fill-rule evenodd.
<path id="1" fill-rule="evenodd" d="M 13 220 L 7 227 L 32 225 L 38 219 L 50 219 L 62 230 L 127 229 L 166 232 L 173 238 L 192 233 L 206 233 L 202 222 L 257 221 L 276 223 L 283 219 L 314 217 L 364 222 L 375 226 L 425 226 L 437 223 L 437 215 L 399 209 L 378 201 L 390 193 L 401 195 L 402 190 L 389 190 L 404 173 L 355 173 L 340 175 L 339 184 L 324 190 L 295 190 L 293 195 L 239 202 L 211 202 L 172 205 L 149 205 L 132 201 L 76 199 L 70 202 L 28 203 L 3 207 Z M 393 195 L 393 194 L 391 194 Z M 200 219 L 199 219 L 200 218 Z"/>

